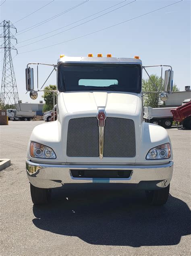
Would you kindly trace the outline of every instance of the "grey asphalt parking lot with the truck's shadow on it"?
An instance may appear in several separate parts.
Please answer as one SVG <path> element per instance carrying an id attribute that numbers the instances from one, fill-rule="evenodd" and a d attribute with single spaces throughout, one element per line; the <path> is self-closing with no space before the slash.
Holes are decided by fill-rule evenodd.
<path id="1" fill-rule="evenodd" d="M 166 205 L 146 204 L 144 191 L 54 190 L 33 206 L 25 173 L 28 140 L 42 121 L 0 127 L 1 255 L 189 255 L 191 131 L 172 127 L 174 174 Z"/>

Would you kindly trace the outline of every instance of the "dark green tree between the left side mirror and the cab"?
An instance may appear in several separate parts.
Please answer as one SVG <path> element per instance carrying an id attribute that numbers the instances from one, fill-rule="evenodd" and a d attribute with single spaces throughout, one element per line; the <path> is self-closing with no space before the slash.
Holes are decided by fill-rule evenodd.
<path id="1" fill-rule="evenodd" d="M 56 85 L 48 85 L 44 88 L 45 90 L 49 91 L 49 90 L 56 90 Z M 49 111 L 53 109 L 53 97 L 54 97 L 54 93 L 53 92 L 44 92 L 44 95 L 42 96 L 42 98 L 44 98 L 45 104 L 43 107 L 43 112 Z M 56 96 L 55 96 L 55 104 L 56 104 Z"/>

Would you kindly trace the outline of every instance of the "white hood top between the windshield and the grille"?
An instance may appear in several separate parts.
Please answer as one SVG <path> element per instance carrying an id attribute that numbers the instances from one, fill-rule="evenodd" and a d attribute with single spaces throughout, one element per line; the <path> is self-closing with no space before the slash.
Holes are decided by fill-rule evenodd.
<path id="1" fill-rule="evenodd" d="M 68 113 L 96 111 L 105 108 L 107 111 L 135 114 L 141 99 L 137 94 L 122 92 L 64 92 L 63 100 Z"/>

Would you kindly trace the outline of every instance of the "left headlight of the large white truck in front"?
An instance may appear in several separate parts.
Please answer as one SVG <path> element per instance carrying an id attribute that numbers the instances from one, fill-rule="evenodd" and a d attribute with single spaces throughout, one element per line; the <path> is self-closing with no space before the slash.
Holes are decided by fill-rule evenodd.
<path id="1" fill-rule="evenodd" d="M 36 142 L 31 142 L 30 144 L 30 156 L 36 158 L 56 158 L 52 148 Z"/>

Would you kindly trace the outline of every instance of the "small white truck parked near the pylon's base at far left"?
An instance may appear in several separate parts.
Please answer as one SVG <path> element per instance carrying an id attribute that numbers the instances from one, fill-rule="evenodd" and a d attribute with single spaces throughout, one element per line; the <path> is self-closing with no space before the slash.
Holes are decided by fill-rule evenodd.
<path id="1" fill-rule="evenodd" d="M 7 116 L 9 120 L 13 121 L 32 121 L 35 116 L 35 111 L 23 111 L 17 109 L 7 109 Z"/>

